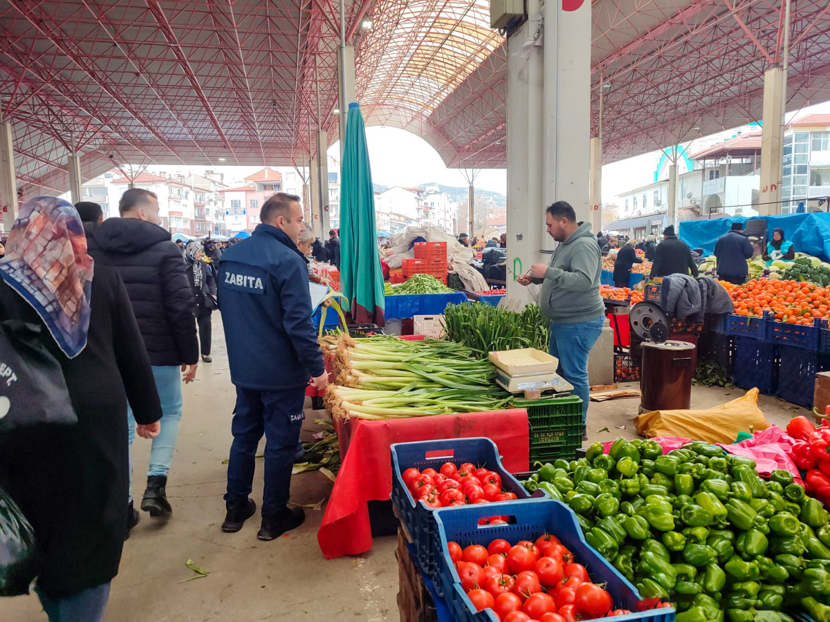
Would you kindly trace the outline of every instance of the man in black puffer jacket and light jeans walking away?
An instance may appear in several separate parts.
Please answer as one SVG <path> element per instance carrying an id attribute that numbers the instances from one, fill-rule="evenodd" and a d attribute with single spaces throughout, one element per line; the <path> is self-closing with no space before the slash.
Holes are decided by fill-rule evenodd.
<path id="1" fill-rule="evenodd" d="M 181 381 L 193 381 L 199 359 L 195 300 L 182 253 L 169 231 L 160 226 L 159 201 L 154 192 L 130 188 L 121 197 L 118 209 L 121 217 L 101 223 L 87 244 L 93 259 L 115 265 L 121 275 L 153 366 L 164 415 L 161 433 L 153 440 L 150 452 L 141 509 L 152 517 L 166 518 L 173 513 L 165 487 L 182 418 Z M 127 421 L 132 445 L 135 420 L 131 411 Z M 134 513 L 131 526 L 138 520 L 138 513 Z"/>

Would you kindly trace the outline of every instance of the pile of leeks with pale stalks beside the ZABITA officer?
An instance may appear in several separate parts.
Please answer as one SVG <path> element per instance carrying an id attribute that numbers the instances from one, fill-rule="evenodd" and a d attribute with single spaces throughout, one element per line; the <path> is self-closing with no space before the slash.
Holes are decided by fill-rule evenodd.
<path id="1" fill-rule="evenodd" d="M 398 419 L 493 411 L 512 396 L 493 384 L 496 368 L 458 343 L 387 335 L 323 340 L 337 380 L 326 406 L 339 419 Z"/>

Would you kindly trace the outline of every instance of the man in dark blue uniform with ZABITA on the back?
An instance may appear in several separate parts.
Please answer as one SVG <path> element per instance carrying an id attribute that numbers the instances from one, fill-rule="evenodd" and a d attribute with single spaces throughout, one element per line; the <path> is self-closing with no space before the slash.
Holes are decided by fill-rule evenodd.
<path id="1" fill-rule="evenodd" d="M 305 520 L 302 508 L 288 507 L 305 386 L 311 377 L 318 389 L 328 384 L 311 322 L 308 270 L 297 250 L 305 229 L 299 201 L 285 192 L 268 199 L 261 225 L 225 251 L 217 277 L 231 381 L 237 387 L 222 531 L 238 532 L 256 512 L 248 495 L 256 445 L 265 434 L 260 540 L 280 537 Z"/>

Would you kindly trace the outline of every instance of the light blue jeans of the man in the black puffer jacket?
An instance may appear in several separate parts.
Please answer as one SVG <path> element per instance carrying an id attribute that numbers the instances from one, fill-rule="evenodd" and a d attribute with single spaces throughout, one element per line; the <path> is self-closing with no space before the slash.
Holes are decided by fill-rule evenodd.
<path id="1" fill-rule="evenodd" d="M 175 365 L 153 366 L 156 390 L 161 400 L 161 431 L 153 439 L 150 450 L 148 475 L 167 477 L 170 463 L 173 462 L 173 449 L 176 449 L 178 424 L 182 420 L 182 377 L 181 369 Z M 129 438 L 129 488 L 133 488 L 133 439 L 135 438 L 135 419 L 133 409 L 127 408 L 127 425 Z M 132 501 L 133 495 L 129 494 Z"/>

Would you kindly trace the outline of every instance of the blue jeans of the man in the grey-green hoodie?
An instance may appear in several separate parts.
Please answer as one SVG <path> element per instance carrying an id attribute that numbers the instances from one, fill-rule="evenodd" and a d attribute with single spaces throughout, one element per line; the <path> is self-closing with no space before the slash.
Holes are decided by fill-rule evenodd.
<path id="1" fill-rule="evenodd" d="M 588 322 L 551 322 L 550 356 L 559 359 L 559 376 L 574 385 L 574 393 L 582 398 L 582 425 L 588 416 L 588 352 L 603 332 L 605 317 Z"/>

